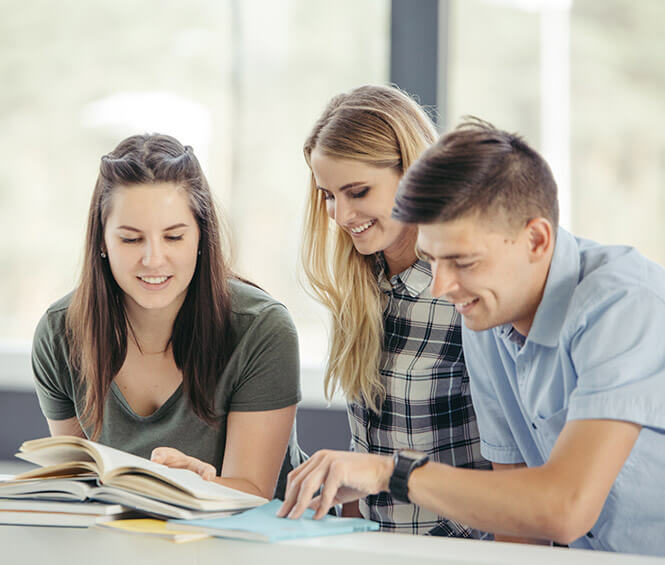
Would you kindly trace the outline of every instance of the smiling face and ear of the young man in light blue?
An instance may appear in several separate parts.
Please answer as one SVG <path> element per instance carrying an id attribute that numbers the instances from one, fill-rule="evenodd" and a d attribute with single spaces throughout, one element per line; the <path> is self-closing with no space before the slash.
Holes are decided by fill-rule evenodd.
<path id="1" fill-rule="evenodd" d="M 515 231 L 477 216 L 419 225 L 418 254 L 432 265 L 432 295 L 454 303 L 471 330 L 512 323 L 527 335 L 554 247 L 548 226 L 539 218 Z"/>

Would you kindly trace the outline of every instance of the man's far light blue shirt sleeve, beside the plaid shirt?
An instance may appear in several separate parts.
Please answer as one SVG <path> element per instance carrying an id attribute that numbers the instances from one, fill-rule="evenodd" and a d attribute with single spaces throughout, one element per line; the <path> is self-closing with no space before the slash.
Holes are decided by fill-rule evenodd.
<path id="1" fill-rule="evenodd" d="M 497 394 L 493 382 L 495 379 L 507 382 L 507 379 L 503 375 L 496 375 L 488 362 L 490 358 L 498 355 L 492 332 L 473 332 L 462 323 L 462 345 L 480 434 L 480 453 L 493 463 L 524 463 L 510 430 L 504 406 L 506 399 Z"/>

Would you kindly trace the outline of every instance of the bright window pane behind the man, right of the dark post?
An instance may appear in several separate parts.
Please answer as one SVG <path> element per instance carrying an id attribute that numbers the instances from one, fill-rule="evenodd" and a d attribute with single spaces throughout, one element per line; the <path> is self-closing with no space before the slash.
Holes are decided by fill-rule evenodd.
<path id="1" fill-rule="evenodd" d="M 564 227 L 665 264 L 665 4 L 453 0 L 452 126 L 518 131 L 552 165 Z"/>

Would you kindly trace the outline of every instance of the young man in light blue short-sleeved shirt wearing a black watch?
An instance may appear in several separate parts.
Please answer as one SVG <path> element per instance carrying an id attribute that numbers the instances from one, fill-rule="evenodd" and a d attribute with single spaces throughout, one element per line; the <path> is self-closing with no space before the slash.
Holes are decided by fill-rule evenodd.
<path id="1" fill-rule="evenodd" d="M 317 516 L 390 491 L 498 539 L 665 555 L 665 270 L 558 228 L 545 161 L 480 121 L 412 165 L 393 215 L 419 224 L 432 294 L 463 316 L 495 471 L 320 452 L 291 473 L 281 514 L 322 484 Z"/>

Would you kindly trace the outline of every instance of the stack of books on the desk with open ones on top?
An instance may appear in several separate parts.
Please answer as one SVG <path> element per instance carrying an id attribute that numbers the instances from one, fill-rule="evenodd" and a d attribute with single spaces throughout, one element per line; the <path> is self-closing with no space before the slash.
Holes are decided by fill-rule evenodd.
<path id="1" fill-rule="evenodd" d="M 40 468 L 0 481 L 0 523 L 86 527 L 139 512 L 194 519 L 266 499 L 72 436 L 27 441 L 17 457 Z"/>

